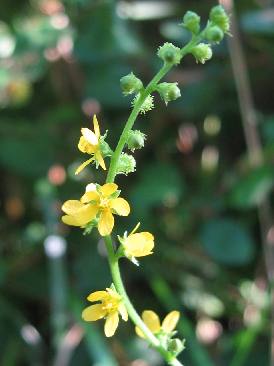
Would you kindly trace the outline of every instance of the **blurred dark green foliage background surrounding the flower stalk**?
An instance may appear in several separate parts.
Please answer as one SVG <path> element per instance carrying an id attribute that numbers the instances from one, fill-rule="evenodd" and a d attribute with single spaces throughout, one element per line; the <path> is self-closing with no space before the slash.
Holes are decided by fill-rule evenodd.
<path id="1" fill-rule="evenodd" d="M 161 366 L 121 321 L 84 323 L 87 296 L 111 284 L 102 237 L 62 224 L 62 203 L 106 173 L 77 148 L 80 128 L 108 129 L 112 149 L 131 112 L 119 79 L 146 85 L 164 42 L 182 47 L 187 10 L 205 26 L 213 0 L 0 0 L 0 366 Z M 117 176 L 131 206 L 113 238 L 141 221 L 154 254 L 122 259 L 137 311 L 179 310 L 185 366 L 269 365 L 270 294 L 256 204 L 274 185 L 274 5 L 235 0 L 265 165 L 250 170 L 227 41 L 212 60 L 186 55 L 163 81 L 182 97 L 134 125 L 148 135 L 137 171 Z M 128 151 L 129 153 L 129 151 Z M 106 158 L 109 165 L 109 158 Z M 44 240 L 45 244 L 44 243 Z"/>

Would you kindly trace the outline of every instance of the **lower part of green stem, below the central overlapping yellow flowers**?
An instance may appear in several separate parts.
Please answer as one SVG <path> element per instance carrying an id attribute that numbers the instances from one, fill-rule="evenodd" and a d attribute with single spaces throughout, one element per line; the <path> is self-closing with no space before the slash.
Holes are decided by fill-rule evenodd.
<path id="1" fill-rule="evenodd" d="M 164 359 L 172 366 L 182 366 L 182 364 L 174 358 L 163 346 L 160 345 L 159 340 L 151 333 L 151 331 L 146 327 L 137 311 L 134 309 L 132 303 L 130 302 L 128 295 L 126 294 L 125 287 L 121 278 L 119 264 L 117 258 L 115 258 L 115 253 L 113 250 L 112 240 L 110 235 L 104 236 L 104 241 L 106 243 L 107 253 L 109 257 L 109 264 L 111 269 L 111 275 L 113 277 L 113 282 L 116 290 L 121 296 L 125 298 L 125 307 L 128 314 L 135 325 L 137 325 L 141 331 L 144 333 L 146 339 L 156 348 L 157 351 L 164 357 Z"/>

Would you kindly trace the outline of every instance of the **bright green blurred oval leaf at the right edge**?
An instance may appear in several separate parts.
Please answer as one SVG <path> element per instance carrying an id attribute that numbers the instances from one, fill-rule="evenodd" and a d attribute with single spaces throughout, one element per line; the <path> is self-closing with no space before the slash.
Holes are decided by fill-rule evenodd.
<path id="1" fill-rule="evenodd" d="M 274 186 L 274 170 L 270 166 L 252 170 L 232 190 L 229 202 L 239 209 L 256 207 Z"/>

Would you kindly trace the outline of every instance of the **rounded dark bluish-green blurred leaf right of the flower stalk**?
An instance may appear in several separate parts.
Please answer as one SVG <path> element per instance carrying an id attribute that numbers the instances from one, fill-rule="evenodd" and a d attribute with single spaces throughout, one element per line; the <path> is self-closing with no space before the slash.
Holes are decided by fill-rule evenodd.
<path id="1" fill-rule="evenodd" d="M 249 232 L 235 219 L 210 219 L 201 230 L 203 249 L 226 265 L 247 265 L 255 253 Z"/>

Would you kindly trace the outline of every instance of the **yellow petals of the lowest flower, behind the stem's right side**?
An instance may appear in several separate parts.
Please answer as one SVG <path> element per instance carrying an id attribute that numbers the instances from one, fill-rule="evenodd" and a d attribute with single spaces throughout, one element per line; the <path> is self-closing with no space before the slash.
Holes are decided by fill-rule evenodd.
<path id="1" fill-rule="evenodd" d="M 179 311 L 171 311 L 171 313 L 167 314 L 167 316 L 164 318 L 162 325 L 160 325 L 159 317 L 154 313 L 154 311 L 144 310 L 142 312 L 142 320 L 152 333 L 157 333 L 161 329 L 163 329 L 165 333 L 172 332 L 179 320 L 179 316 Z M 138 336 L 145 338 L 138 326 L 135 327 L 135 331 Z"/>

